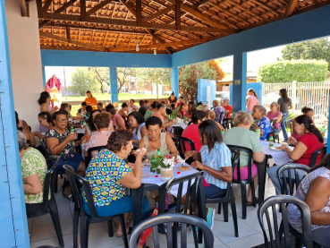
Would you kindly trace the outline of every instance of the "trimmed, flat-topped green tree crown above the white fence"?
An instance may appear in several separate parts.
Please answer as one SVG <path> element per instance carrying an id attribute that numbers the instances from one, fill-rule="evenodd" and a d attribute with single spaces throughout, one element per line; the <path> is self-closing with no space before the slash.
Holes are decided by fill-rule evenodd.
<path id="1" fill-rule="evenodd" d="M 281 60 L 258 68 L 258 81 L 325 81 L 328 63 L 324 60 Z"/>

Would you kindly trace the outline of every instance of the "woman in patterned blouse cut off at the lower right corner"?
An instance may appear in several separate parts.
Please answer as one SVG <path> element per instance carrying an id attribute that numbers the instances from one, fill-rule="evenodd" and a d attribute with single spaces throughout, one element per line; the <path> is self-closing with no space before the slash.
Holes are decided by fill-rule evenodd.
<path id="1" fill-rule="evenodd" d="M 318 166 L 313 167 L 300 182 L 294 194 L 309 205 L 311 217 L 311 235 L 313 241 L 321 247 L 330 247 L 330 155 L 322 159 Z M 300 234 L 300 210 L 296 205 L 288 205 L 289 224 Z"/>

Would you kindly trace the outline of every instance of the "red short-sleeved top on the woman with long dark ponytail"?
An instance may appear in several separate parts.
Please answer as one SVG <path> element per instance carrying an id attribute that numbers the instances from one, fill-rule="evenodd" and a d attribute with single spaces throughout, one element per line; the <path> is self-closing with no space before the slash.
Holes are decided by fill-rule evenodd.
<path id="1" fill-rule="evenodd" d="M 304 154 L 302 154 L 299 159 L 295 160 L 294 163 L 302 164 L 309 167 L 310 158 L 313 155 L 313 152 L 317 149 L 324 147 L 325 145 L 324 143 L 318 141 L 317 135 L 315 135 L 314 133 L 305 133 L 300 137 L 299 142 L 302 142 L 307 147 L 307 150 Z M 321 161 L 322 156 L 323 153 L 320 153 L 318 155 L 316 165 L 319 163 L 319 161 Z"/>

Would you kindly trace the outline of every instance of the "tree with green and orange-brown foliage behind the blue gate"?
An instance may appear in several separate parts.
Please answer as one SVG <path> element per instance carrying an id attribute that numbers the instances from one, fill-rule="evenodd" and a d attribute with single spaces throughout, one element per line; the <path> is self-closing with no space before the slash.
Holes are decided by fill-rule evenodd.
<path id="1" fill-rule="evenodd" d="M 179 68 L 179 91 L 185 99 L 197 100 L 198 80 L 222 80 L 224 71 L 216 60 L 190 64 Z"/>

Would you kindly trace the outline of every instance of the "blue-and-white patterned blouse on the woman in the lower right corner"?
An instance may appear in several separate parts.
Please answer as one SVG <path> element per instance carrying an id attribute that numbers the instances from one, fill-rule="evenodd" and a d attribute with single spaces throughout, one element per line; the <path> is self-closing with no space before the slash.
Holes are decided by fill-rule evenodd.
<path id="1" fill-rule="evenodd" d="M 301 201 L 305 201 L 306 194 L 307 192 L 309 192 L 309 184 L 318 176 L 326 177 L 326 179 L 330 181 L 330 170 L 328 170 L 326 167 L 319 167 L 316 170 L 309 173 L 308 175 L 306 175 L 299 184 L 298 190 L 294 194 L 294 196 L 300 199 Z M 330 212 L 330 197 L 326 201 L 326 206 L 323 207 L 321 211 L 325 213 Z M 302 233 L 300 210 L 296 205 L 293 204 L 288 205 L 288 218 L 290 225 L 298 232 Z M 318 226 L 312 224 L 311 230 L 313 231 L 318 228 L 326 228 L 326 227 L 330 227 L 330 225 Z"/>

